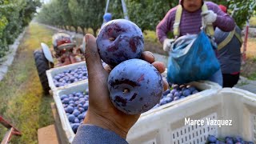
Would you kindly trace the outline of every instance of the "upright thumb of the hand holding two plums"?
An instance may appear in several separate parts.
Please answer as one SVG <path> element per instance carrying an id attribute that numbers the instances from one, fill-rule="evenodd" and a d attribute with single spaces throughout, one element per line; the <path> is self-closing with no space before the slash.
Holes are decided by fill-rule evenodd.
<path id="1" fill-rule="evenodd" d="M 103 72 L 102 61 L 98 54 L 96 38 L 92 34 L 86 34 L 86 66 L 88 70 L 89 80 L 94 81 L 94 77 Z M 104 72 L 103 72 L 104 73 Z"/>

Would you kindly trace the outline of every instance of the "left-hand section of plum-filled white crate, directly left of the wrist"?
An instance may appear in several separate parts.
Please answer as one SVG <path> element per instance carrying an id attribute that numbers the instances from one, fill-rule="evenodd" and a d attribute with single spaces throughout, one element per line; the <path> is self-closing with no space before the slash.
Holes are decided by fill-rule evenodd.
<path id="1" fill-rule="evenodd" d="M 54 102 L 62 123 L 66 139 L 71 143 L 74 135 L 86 118 L 89 107 L 88 82 L 66 86 L 63 90 L 54 91 Z"/>

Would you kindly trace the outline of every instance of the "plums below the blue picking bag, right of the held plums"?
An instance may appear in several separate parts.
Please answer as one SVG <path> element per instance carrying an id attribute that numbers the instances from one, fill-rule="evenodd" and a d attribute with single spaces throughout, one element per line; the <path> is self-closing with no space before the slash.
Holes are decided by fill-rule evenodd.
<path id="1" fill-rule="evenodd" d="M 154 106 L 154 108 L 173 101 L 178 101 L 179 99 L 186 98 L 192 94 L 197 94 L 198 92 L 199 91 L 194 86 L 170 84 L 170 89 L 162 93 L 160 102 Z"/>

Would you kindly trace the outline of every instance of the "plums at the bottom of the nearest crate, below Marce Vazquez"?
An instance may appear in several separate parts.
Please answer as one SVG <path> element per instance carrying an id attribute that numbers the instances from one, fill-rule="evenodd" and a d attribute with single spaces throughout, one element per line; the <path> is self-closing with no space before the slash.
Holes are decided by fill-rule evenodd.
<path id="1" fill-rule="evenodd" d="M 254 142 L 246 142 L 241 137 L 226 137 L 226 138 L 216 138 L 214 135 L 209 135 L 207 144 L 254 144 Z"/>

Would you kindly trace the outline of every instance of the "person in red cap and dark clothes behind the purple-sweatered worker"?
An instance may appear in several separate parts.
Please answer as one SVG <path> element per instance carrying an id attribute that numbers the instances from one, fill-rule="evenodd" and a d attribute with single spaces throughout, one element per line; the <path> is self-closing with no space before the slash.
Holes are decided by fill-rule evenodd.
<path id="1" fill-rule="evenodd" d="M 219 6 L 226 13 L 226 6 Z M 215 41 L 218 44 L 218 61 L 222 67 L 223 87 L 233 87 L 238 83 L 241 67 L 242 35 L 238 26 L 231 32 L 216 29 Z"/>

